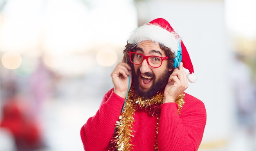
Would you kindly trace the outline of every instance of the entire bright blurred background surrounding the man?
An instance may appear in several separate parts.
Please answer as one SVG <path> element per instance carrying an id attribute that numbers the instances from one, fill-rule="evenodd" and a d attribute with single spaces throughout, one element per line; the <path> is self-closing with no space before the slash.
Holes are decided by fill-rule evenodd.
<path id="1" fill-rule="evenodd" d="M 1 0 L 1 151 L 83 151 L 130 33 L 182 37 L 207 124 L 199 151 L 256 151 L 255 0 Z M 188 71 L 187 71 L 188 73 Z"/>

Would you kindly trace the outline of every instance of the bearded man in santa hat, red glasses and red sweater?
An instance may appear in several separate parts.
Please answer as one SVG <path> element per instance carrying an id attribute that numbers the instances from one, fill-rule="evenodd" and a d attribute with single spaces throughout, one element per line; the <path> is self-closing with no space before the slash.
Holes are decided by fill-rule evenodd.
<path id="1" fill-rule="evenodd" d="M 81 129 L 86 151 L 196 151 L 204 104 L 184 93 L 193 65 L 170 24 L 157 18 L 130 36 L 96 115 Z M 181 59 L 182 56 L 182 59 Z M 181 62 L 182 61 L 182 62 Z M 188 78 L 183 69 L 189 69 Z"/>

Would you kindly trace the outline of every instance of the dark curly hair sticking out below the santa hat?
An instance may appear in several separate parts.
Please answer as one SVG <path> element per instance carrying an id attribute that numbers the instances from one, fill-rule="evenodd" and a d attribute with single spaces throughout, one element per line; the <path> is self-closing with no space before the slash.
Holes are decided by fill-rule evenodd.
<path id="1" fill-rule="evenodd" d="M 130 52 L 130 51 L 134 52 L 136 47 L 137 47 L 137 44 L 130 44 L 127 41 L 127 44 L 124 48 L 124 56 L 126 57 L 127 63 L 130 64 L 130 65 L 132 65 L 132 63 L 130 62 L 130 56 L 129 56 L 128 52 Z M 173 58 L 176 57 L 175 54 L 171 51 L 170 48 L 164 46 L 164 44 L 159 43 L 159 47 L 162 50 L 164 50 L 165 55 L 169 57 L 168 58 L 168 62 L 169 62 L 168 63 L 168 69 L 171 69 L 173 71 L 173 69 L 174 69 L 174 67 L 173 67 L 174 60 L 173 60 Z"/>

